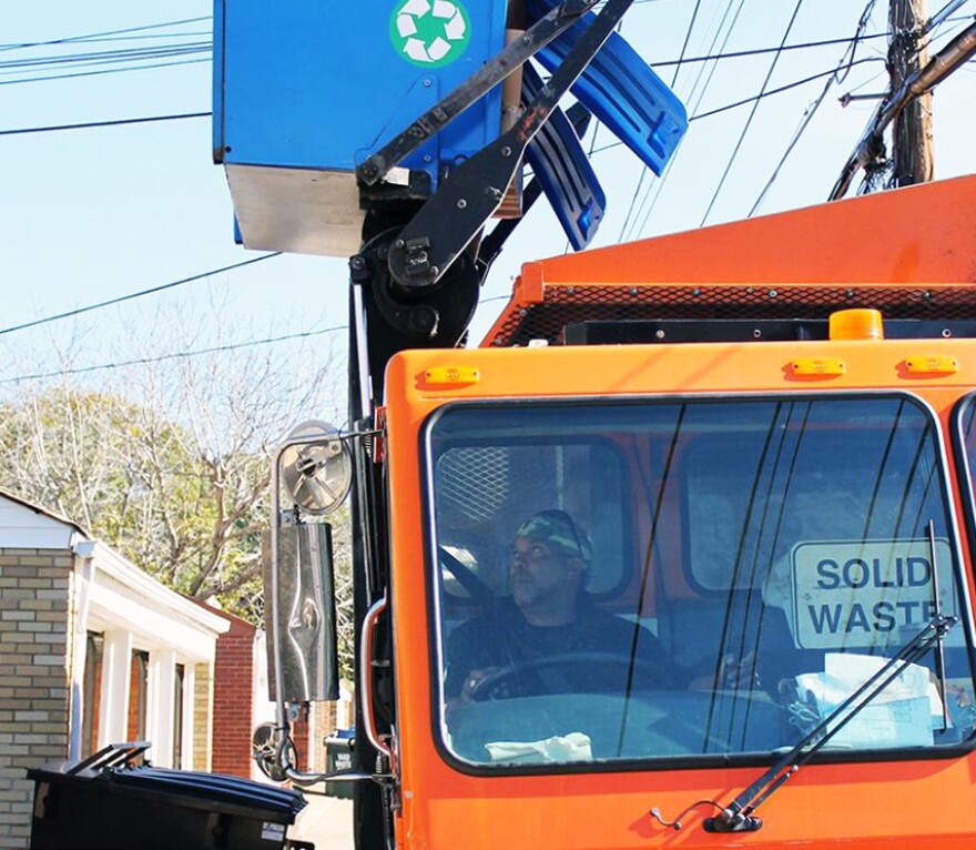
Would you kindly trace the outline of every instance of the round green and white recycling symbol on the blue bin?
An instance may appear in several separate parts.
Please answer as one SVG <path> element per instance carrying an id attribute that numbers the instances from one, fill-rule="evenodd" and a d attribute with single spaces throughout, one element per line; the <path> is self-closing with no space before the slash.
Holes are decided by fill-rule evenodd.
<path id="1" fill-rule="evenodd" d="M 406 0 L 394 10 L 389 38 L 407 62 L 439 68 L 465 52 L 471 22 L 458 0 Z"/>

